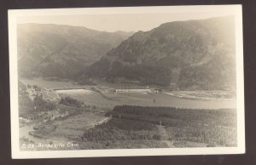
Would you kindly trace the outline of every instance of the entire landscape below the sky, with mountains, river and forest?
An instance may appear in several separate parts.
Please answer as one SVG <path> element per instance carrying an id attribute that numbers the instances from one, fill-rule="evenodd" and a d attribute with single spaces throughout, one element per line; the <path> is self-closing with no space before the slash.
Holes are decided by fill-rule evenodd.
<path id="1" fill-rule="evenodd" d="M 234 21 L 19 25 L 20 150 L 236 146 Z"/>

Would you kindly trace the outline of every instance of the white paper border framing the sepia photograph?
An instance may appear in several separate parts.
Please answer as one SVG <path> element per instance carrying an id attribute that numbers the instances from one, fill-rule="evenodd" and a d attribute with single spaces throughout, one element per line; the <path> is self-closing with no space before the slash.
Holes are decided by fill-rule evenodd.
<path id="1" fill-rule="evenodd" d="M 171 148 L 171 149 L 112 149 L 79 151 L 20 151 L 18 117 L 17 17 L 78 14 L 145 14 L 145 13 L 204 13 L 228 10 L 236 19 L 236 105 L 237 147 Z M 245 153 L 244 84 L 241 5 L 202 5 L 175 7 L 125 7 L 88 9 L 11 9 L 9 10 L 9 71 L 11 104 L 12 158 L 56 158 L 94 156 L 169 156 Z"/>

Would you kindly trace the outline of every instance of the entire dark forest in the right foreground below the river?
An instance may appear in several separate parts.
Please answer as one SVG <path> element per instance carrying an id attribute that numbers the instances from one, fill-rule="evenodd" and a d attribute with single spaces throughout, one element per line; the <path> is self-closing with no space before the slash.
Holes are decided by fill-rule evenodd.
<path id="1" fill-rule="evenodd" d="M 84 142 L 107 144 L 110 140 L 115 145 L 120 140 L 149 140 L 151 144 L 169 140 L 173 147 L 188 147 L 187 142 L 236 146 L 236 111 L 231 109 L 117 105 L 106 116 L 111 120 L 84 132 Z"/>

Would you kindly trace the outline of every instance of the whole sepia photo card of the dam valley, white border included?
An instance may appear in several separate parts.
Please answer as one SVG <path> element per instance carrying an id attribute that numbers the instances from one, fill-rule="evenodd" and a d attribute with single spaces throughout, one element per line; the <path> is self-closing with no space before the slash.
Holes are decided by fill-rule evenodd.
<path id="1" fill-rule="evenodd" d="M 243 153 L 241 6 L 9 11 L 13 158 Z"/>

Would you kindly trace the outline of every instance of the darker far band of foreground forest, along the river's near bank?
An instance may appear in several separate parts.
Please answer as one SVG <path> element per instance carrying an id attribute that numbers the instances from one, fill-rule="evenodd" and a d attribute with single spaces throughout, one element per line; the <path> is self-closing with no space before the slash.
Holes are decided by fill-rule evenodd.
<path id="1" fill-rule="evenodd" d="M 236 126 L 236 111 L 233 109 L 203 110 L 182 109 L 175 107 L 149 107 L 136 105 L 117 105 L 107 115 L 143 120 L 148 122 L 162 121 L 182 122 L 181 124 L 199 122 L 203 124 L 218 124 L 225 127 Z"/>

